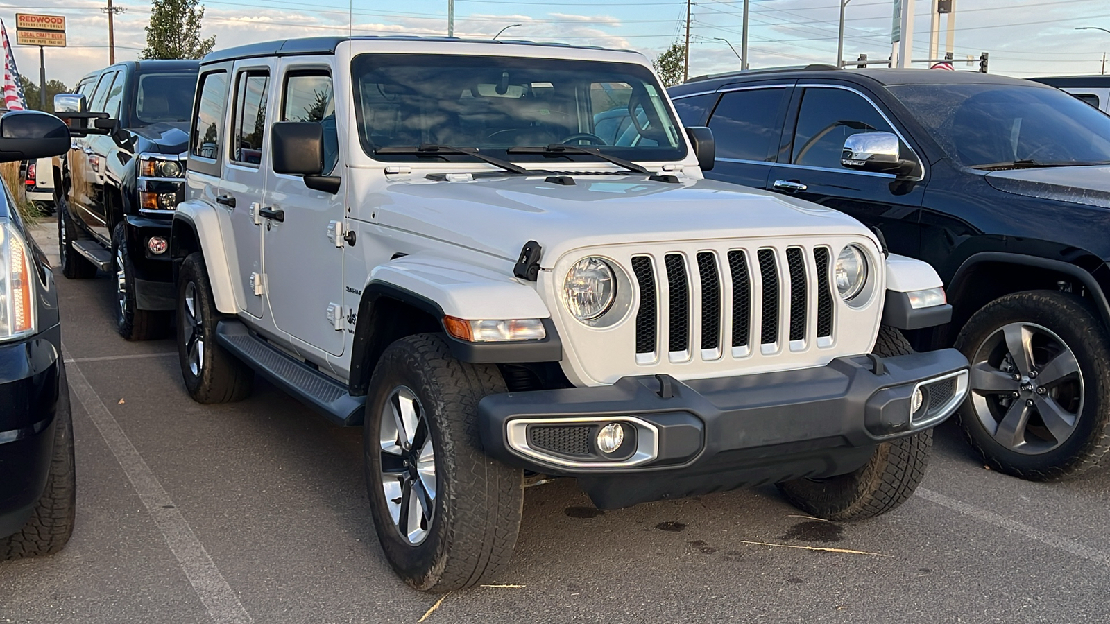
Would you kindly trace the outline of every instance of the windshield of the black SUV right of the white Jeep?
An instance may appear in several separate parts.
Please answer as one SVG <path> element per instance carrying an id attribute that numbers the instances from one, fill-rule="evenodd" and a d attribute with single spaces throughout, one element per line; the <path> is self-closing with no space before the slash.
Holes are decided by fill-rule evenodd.
<path id="1" fill-rule="evenodd" d="M 889 90 L 965 167 L 1110 162 L 1110 117 L 1057 89 L 949 83 Z"/>

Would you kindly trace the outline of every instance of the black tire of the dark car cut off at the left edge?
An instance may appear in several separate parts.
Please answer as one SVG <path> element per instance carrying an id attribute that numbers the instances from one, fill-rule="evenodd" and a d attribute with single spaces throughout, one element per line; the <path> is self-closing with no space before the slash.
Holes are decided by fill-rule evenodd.
<path id="1" fill-rule="evenodd" d="M 19 533 L 0 539 L 0 561 L 51 555 L 62 550 L 73 534 L 77 510 L 77 475 L 73 462 L 73 419 L 70 412 L 65 368 L 58 362 L 59 395 L 54 413 L 54 449 L 50 474 L 30 520 Z"/>

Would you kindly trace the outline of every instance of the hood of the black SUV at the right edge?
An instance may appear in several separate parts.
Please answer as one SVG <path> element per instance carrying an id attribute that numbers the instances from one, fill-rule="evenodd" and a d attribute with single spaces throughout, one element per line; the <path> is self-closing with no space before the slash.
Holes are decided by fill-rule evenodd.
<path id="1" fill-rule="evenodd" d="M 1110 208 L 1110 167 L 1049 167 L 991 171 L 987 182 L 1007 193 Z"/>

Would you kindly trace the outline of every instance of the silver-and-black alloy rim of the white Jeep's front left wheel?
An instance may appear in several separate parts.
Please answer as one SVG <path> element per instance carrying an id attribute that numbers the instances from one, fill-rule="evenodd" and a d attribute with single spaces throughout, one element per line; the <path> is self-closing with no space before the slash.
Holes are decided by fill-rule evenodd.
<path id="1" fill-rule="evenodd" d="M 418 545 L 435 516 L 435 449 L 427 414 L 408 388 L 401 385 L 390 393 L 382 407 L 379 440 L 390 516 L 405 541 Z"/>

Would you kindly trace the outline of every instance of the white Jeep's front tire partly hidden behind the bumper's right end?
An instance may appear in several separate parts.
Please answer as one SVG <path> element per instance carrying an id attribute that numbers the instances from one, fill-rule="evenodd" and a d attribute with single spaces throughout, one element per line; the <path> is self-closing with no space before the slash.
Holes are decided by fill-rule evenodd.
<path id="1" fill-rule="evenodd" d="M 879 328 L 874 353 L 890 358 L 914 353 L 901 332 Z M 799 479 L 779 483 L 791 504 L 833 521 L 865 520 L 885 514 L 914 495 L 929 463 L 932 430 L 884 442 L 859 469 L 828 479 Z"/>

